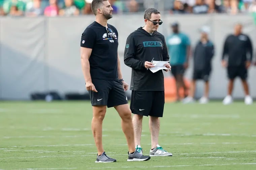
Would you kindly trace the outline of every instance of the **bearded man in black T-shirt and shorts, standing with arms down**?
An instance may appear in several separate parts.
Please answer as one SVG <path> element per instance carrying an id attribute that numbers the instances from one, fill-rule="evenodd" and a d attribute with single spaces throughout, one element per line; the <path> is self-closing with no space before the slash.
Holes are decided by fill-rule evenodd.
<path id="1" fill-rule="evenodd" d="M 106 156 L 102 146 L 102 121 L 106 107 L 114 107 L 122 119 L 122 129 L 129 148 L 127 161 L 149 160 L 134 148 L 134 131 L 131 110 L 125 91 L 128 84 L 122 78 L 117 53 L 118 32 L 107 20 L 112 18 L 113 8 L 107 0 L 93 0 L 91 3 L 96 20 L 90 24 L 81 37 L 81 63 L 86 89 L 92 103 L 92 132 L 98 150 L 96 163 L 116 162 Z"/>

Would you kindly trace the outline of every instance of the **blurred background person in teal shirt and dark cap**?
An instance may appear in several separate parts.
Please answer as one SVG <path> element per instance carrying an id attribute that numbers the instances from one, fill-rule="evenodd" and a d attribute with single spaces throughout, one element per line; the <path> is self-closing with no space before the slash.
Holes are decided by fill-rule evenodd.
<path id="1" fill-rule="evenodd" d="M 171 73 L 176 81 L 177 101 L 181 100 L 179 89 L 184 89 L 185 97 L 187 96 L 187 87 L 185 86 L 183 75 L 188 68 L 188 57 L 190 54 L 189 37 L 179 31 L 179 24 L 174 22 L 171 24 L 172 32 L 167 38 L 167 48 L 170 56 Z"/>

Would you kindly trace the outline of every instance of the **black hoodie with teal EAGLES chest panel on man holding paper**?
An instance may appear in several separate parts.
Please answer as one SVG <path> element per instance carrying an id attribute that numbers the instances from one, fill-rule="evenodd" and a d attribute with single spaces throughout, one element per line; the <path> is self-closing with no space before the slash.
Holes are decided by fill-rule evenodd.
<path id="1" fill-rule="evenodd" d="M 139 27 L 126 40 L 124 63 L 132 68 L 133 91 L 164 91 L 164 75 L 159 70 L 152 73 L 145 68 L 145 61 L 169 61 L 164 36 L 158 32 L 150 35 Z"/>

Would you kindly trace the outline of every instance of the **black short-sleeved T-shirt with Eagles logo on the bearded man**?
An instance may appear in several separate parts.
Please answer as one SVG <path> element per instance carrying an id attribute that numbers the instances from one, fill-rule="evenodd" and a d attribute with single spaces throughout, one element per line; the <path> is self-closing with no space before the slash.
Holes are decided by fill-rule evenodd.
<path id="1" fill-rule="evenodd" d="M 94 21 L 84 31 L 81 37 L 81 47 L 91 48 L 89 58 L 91 78 L 117 80 L 117 29 L 107 24 L 108 30 Z"/>

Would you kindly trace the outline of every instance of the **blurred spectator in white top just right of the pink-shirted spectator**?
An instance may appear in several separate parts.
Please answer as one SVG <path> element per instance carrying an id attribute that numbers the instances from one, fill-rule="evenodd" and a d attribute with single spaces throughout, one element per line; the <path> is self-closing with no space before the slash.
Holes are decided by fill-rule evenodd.
<path id="1" fill-rule="evenodd" d="M 74 5 L 73 0 L 65 0 L 65 7 L 60 9 L 59 11 L 60 16 L 72 16 L 72 15 L 79 15 L 79 10 Z"/>

